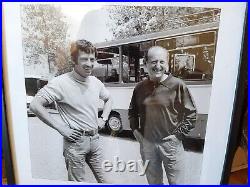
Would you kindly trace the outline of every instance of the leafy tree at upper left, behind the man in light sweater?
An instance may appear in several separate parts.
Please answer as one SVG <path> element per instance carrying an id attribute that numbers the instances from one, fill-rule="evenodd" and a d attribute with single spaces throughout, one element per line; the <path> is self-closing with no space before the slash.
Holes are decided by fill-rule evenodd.
<path id="1" fill-rule="evenodd" d="M 21 11 L 24 63 L 41 63 L 39 56 L 45 55 L 52 73 L 53 67 L 62 65 L 57 64 L 57 52 L 68 46 L 65 16 L 60 7 L 49 4 L 23 5 Z"/>

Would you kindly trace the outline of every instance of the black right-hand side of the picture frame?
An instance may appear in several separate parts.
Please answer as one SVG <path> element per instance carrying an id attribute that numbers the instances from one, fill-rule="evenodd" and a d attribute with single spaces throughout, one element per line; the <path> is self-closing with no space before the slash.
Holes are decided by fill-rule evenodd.
<path id="1" fill-rule="evenodd" d="M 234 98 L 234 109 L 231 118 L 231 125 L 230 125 L 230 132 L 229 132 L 229 140 L 227 144 L 227 153 L 224 162 L 224 167 L 222 171 L 221 177 L 221 184 L 228 184 L 229 177 L 231 173 L 231 167 L 234 159 L 234 155 L 236 150 L 239 146 L 239 140 L 243 125 L 243 118 L 244 118 L 244 101 L 245 101 L 245 81 L 247 80 L 247 70 L 248 70 L 248 38 L 247 38 L 247 31 L 248 31 L 248 17 L 247 17 L 248 7 L 246 8 L 246 18 L 244 24 L 244 35 L 243 43 L 241 47 L 241 63 L 239 66 L 239 74 L 237 80 L 237 88 L 235 90 L 235 98 Z M 237 132 L 237 133 L 236 133 Z"/>

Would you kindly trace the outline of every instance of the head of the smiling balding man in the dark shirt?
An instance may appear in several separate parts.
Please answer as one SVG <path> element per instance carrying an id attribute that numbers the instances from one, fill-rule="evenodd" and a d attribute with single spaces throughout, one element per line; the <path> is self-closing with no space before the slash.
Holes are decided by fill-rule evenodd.
<path id="1" fill-rule="evenodd" d="M 167 52 L 162 48 L 153 48 L 148 53 L 147 69 L 152 80 L 160 80 L 169 70 Z"/>

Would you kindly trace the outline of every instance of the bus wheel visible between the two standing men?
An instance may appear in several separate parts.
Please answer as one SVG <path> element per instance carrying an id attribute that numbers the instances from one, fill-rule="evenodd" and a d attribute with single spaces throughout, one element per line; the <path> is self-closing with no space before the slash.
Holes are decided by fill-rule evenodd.
<path id="1" fill-rule="evenodd" d="M 122 131 L 122 120 L 119 114 L 111 113 L 107 122 L 111 136 L 116 136 Z"/>

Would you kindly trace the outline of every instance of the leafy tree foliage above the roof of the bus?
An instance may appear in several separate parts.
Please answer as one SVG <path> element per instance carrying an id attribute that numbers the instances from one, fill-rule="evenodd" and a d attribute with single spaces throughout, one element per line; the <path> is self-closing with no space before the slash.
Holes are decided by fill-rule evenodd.
<path id="1" fill-rule="evenodd" d="M 119 5 L 106 9 L 115 39 L 215 21 L 214 9 L 209 8 Z"/>

